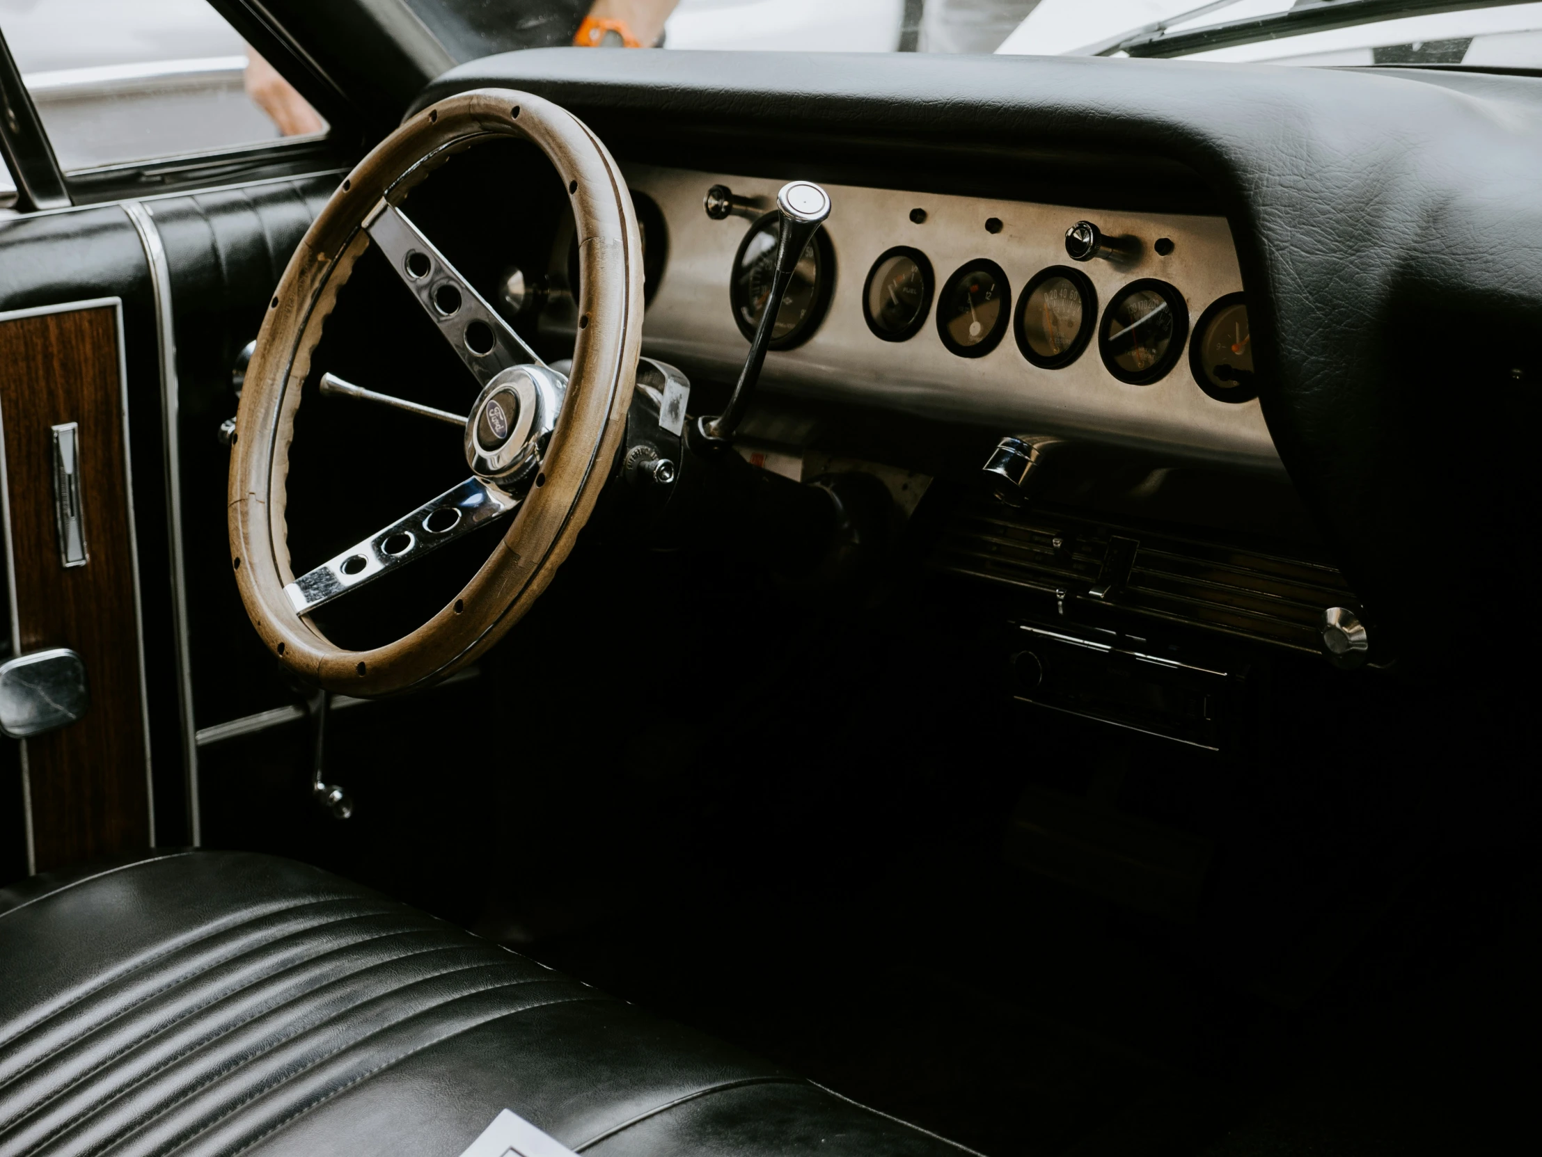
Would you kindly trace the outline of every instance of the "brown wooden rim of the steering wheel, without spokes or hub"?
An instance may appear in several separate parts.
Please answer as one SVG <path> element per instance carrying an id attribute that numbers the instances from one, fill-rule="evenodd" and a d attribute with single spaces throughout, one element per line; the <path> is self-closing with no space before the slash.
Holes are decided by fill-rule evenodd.
<path id="1" fill-rule="evenodd" d="M 298 613 L 285 541 L 288 450 L 301 387 L 338 291 L 370 245 L 362 222 L 455 153 L 493 137 L 540 148 L 567 188 L 578 234 L 574 364 L 555 431 L 500 545 L 460 595 L 410 635 L 347 650 Z M 632 199 L 583 122 L 530 92 L 478 89 L 423 109 L 348 174 L 290 259 L 247 368 L 230 465 L 231 567 L 264 644 L 304 679 L 350 695 L 433 682 L 497 642 L 541 595 L 598 499 L 626 427 L 643 320 Z"/>

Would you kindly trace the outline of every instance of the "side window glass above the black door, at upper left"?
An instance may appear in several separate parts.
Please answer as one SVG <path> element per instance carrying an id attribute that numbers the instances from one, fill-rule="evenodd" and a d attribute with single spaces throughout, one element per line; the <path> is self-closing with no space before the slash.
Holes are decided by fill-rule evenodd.
<path id="1" fill-rule="evenodd" d="M 327 131 L 205 0 L 0 0 L 0 31 L 65 173 Z"/>

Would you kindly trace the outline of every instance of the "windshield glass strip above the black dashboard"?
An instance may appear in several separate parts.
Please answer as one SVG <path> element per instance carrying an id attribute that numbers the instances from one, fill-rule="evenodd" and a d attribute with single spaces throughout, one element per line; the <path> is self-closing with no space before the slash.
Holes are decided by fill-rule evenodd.
<path id="1" fill-rule="evenodd" d="M 1516 0 L 409 0 L 460 60 L 569 45 L 1542 68 Z"/>

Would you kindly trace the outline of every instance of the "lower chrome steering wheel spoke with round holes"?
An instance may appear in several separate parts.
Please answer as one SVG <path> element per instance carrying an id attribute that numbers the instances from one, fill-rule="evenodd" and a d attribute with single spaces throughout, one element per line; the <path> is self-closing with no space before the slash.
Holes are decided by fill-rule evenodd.
<path id="1" fill-rule="evenodd" d="M 453 542 L 510 513 L 520 499 L 480 478 L 467 478 L 410 515 L 392 522 L 370 538 L 355 542 L 341 555 L 284 587 L 298 615 L 308 615 L 382 575 L 416 562 L 424 555 Z"/>

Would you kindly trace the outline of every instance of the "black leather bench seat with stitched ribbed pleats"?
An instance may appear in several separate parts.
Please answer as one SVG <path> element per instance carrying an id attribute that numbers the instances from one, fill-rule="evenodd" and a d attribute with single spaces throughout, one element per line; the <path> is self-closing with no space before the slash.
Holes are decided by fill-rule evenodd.
<path id="1" fill-rule="evenodd" d="M 965 1152 L 293 861 L 173 852 L 0 892 L 0 1154 Z"/>

